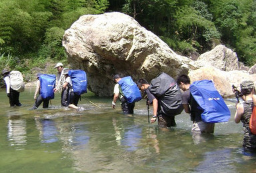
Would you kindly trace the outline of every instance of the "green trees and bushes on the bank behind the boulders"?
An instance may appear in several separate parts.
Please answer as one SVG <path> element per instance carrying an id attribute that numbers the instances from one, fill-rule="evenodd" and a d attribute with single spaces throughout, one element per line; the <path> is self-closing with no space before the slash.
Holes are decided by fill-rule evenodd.
<path id="1" fill-rule="evenodd" d="M 246 65 L 256 63 L 255 0 L 2 0 L 0 66 L 26 74 L 67 63 L 63 33 L 81 15 L 120 11 L 182 55 L 222 43 Z"/>

